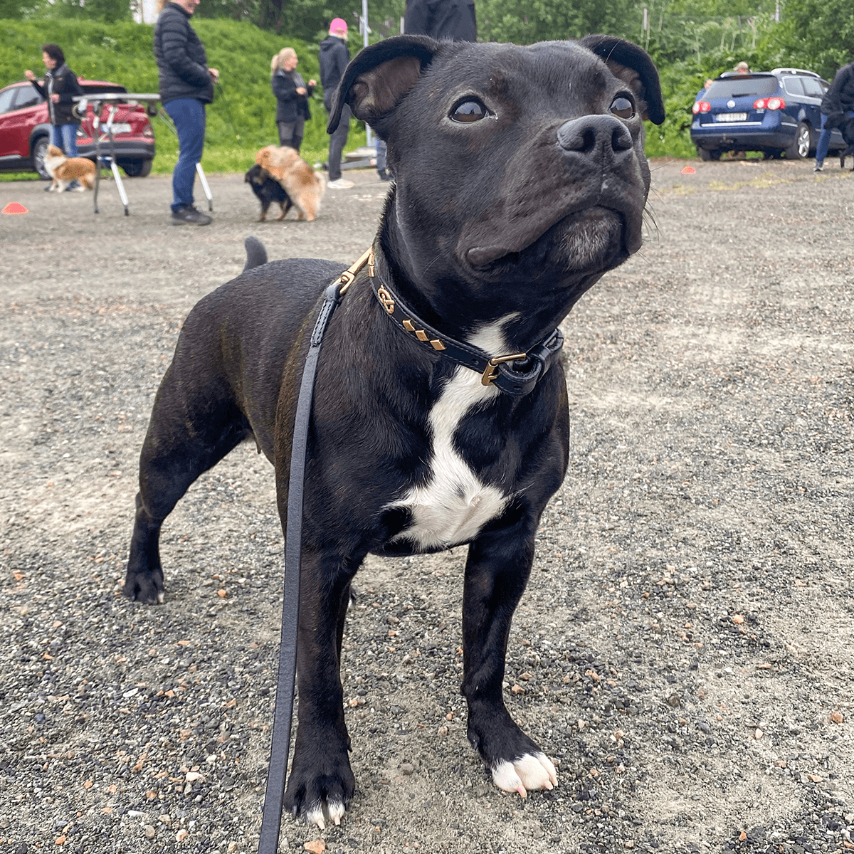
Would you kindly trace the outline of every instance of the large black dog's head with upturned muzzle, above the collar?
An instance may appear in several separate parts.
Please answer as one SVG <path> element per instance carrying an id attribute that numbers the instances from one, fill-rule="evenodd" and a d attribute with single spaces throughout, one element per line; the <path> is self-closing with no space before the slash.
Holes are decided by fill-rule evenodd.
<path id="1" fill-rule="evenodd" d="M 640 248 L 643 122 L 660 124 L 664 105 L 635 44 L 388 38 L 348 66 L 330 132 L 345 103 L 389 143 L 383 233 L 403 238 L 401 272 L 443 315 L 452 280 L 468 284 L 466 301 L 500 296 L 519 311 L 550 293 L 562 316 Z"/>

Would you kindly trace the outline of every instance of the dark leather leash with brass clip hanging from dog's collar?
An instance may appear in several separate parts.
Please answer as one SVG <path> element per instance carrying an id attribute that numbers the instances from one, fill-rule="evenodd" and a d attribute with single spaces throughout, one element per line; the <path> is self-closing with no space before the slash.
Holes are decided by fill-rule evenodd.
<path id="1" fill-rule="evenodd" d="M 302 369 L 300 395 L 296 402 L 294 438 L 290 448 L 290 480 L 288 482 L 288 523 L 284 535 L 284 600 L 282 603 L 282 640 L 278 649 L 276 679 L 276 708 L 272 722 L 270 766 L 267 773 L 264 811 L 258 854 L 276 854 L 284 808 L 284 784 L 288 773 L 290 724 L 294 711 L 296 676 L 296 635 L 300 613 L 300 556 L 302 551 L 302 486 L 306 473 L 308 425 L 312 414 L 314 378 L 320 347 L 332 313 L 341 304 L 350 284 L 362 267 L 368 266 L 373 276 L 373 249 L 368 249 L 353 266 L 342 272 L 336 282 L 326 289 L 323 305 L 314 324 L 306 364 Z"/>

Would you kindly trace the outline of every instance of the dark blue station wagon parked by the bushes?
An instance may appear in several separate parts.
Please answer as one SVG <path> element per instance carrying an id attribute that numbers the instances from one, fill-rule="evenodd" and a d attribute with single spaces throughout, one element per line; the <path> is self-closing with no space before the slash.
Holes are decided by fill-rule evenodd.
<path id="1" fill-rule="evenodd" d="M 705 161 L 719 160 L 724 151 L 792 160 L 815 155 L 829 85 L 802 68 L 722 74 L 694 102 L 691 141 Z M 834 130 L 830 151 L 842 149 L 845 141 Z"/>

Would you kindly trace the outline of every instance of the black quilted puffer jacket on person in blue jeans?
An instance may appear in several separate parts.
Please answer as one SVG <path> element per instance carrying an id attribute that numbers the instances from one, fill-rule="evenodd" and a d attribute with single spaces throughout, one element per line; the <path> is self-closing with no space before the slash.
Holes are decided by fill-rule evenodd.
<path id="1" fill-rule="evenodd" d="M 208 56 L 187 15 L 178 3 L 167 3 L 155 24 L 155 58 L 160 73 L 161 102 L 176 98 L 213 101 Z"/>

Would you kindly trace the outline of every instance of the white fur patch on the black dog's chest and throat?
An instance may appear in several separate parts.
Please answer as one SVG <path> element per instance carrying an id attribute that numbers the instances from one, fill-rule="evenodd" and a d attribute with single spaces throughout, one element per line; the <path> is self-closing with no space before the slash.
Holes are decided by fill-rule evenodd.
<path id="1" fill-rule="evenodd" d="M 469 343 L 489 354 L 507 353 L 501 330 L 514 316 L 484 327 Z M 509 495 L 482 483 L 453 447 L 453 437 L 465 414 L 494 395 L 500 391 L 483 385 L 476 371 L 464 367 L 454 371 L 430 409 L 432 447 L 427 483 L 386 505 L 389 509 L 405 507 L 412 513 L 412 524 L 395 541 L 410 540 L 423 548 L 455 546 L 473 539 L 484 524 L 504 510 Z"/>

